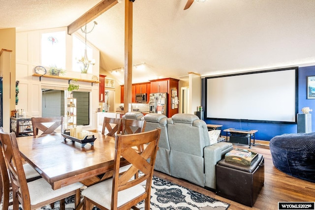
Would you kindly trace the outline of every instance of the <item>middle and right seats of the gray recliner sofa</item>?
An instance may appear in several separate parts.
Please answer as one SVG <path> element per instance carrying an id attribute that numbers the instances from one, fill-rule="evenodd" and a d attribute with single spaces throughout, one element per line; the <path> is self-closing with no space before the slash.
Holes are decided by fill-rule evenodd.
<path id="1" fill-rule="evenodd" d="M 162 128 L 155 170 L 216 188 L 216 164 L 233 149 L 231 143 L 210 145 L 206 122 L 196 115 L 176 114 L 166 119 L 163 115 L 147 114 L 141 120 L 147 121 L 146 131 Z M 162 132 L 165 133 L 162 135 Z"/>

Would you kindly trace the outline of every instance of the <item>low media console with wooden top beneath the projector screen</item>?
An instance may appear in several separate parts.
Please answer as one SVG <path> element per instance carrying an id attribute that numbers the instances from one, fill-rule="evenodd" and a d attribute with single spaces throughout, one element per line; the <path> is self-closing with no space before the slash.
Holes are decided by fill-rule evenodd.
<path id="1" fill-rule="evenodd" d="M 251 148 L 251 138 L 253 136 L 253 146 L 255 146 L 255 133 L 258 130 L 240 130 L 234 128 L 227 128 L 223 130 L 226 132 L 226 141 L 227 133 L 230 133 L 229 141 L 230 143 L 248 145 Z"/>

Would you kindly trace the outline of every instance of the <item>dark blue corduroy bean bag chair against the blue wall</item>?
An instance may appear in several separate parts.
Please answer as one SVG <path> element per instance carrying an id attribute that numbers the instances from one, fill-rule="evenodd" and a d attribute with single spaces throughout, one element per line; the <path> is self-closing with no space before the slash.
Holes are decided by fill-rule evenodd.
<path id="1" fill-rule="evenodd" d="M 315 182 L 315 132 L 275 136 L 270 140 L 272 162 L 290 176 Z"/>

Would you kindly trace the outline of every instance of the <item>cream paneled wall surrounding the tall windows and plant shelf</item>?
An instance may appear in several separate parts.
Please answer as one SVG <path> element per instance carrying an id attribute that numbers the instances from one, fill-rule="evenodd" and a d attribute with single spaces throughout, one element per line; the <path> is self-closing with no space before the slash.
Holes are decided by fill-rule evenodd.
<path id="1" fill-rule="evenodd" d="M 27 116 L 41 117 L 41 89 L 59 89 L 66 90 L 68 87 L 67 80 L 50 79 L 33 77 L 34 67 L 41 65 L 41 33 L 67 30 L 66 27 L 56 28 L 50 30 L 32 30 L 16 33 L 16 80 L 20 81 L 19 85 L 19 103 L 16 109 L 24 109 Z M 81 37 L 80 34 L 76 34 Z M 95 65 L 93 66 L 93 73 L 88 74 L 87 79 L 92 79 L 92 75 L 99 75 L 99 50 L 93 45 L 88 43 L 93 48 L 93 59 Z M 72 36 L 66 35 L 66 74 L 63 77 L 80 78 L 80 72 L 72 70 Z M 46 67 L 46 66 L 45 66 Z M 49 67 L 46 67 L 49 70 Z M 78 82 L 79 90 L 91 91 L 91 104 L 90 104 L 90 125 L 84 129 L 96 128 L 96 114 L 98 108 L 98 84 Z"/>

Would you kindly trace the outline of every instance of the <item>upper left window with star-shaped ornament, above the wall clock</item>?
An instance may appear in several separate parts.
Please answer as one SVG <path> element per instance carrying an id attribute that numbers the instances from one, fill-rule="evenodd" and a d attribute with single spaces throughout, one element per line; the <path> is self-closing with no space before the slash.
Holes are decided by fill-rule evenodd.
<path id="1" fill-rule="evenodd" d="M 65 69 L 65 31 L 42 33 L 41 64 Z"/>

